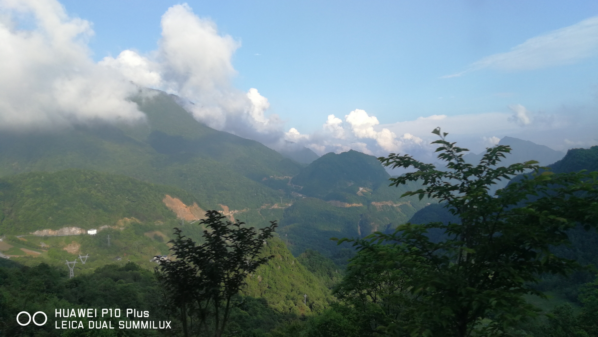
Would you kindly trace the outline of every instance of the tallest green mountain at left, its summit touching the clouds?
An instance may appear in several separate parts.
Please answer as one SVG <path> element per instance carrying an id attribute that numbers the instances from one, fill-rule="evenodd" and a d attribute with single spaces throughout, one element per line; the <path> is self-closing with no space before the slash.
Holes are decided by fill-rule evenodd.
<path id="1" fill-rule="evenodd" d="M 247 218 L 259 219 L 258 208 L 285 196 L 262 181 L 302 168 L 257 141 L 197 122 L 164 92 L 144 89 L 133 100 L 145 122 L 1 131 L 0 176 L 93 169 L 179 187 L 206 208 L 247 208 Z"/>

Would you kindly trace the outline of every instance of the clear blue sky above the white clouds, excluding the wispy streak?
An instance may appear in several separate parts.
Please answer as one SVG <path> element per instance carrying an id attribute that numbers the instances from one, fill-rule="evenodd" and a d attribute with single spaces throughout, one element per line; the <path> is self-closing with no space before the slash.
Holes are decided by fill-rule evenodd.
<path id="1" fill-rule="evenodd" d="M 62 1 L 93 22 L 94 58 L 155 50 L 174 1 Z M 587 104 L 596 58 L 532 71 L 486 70 L 459 79 L 487 55 L 598 15 L 595 1 L 188 1 L 241 42 L 241 89 L 258 88 L 289 125 L 319 128 L 329 113 L 364 109 L 381 123 L 434 114 Z M 260 54 L 260 55 L 255 55 Z M 442 97 L 442 98 L 439 98 Z"/>

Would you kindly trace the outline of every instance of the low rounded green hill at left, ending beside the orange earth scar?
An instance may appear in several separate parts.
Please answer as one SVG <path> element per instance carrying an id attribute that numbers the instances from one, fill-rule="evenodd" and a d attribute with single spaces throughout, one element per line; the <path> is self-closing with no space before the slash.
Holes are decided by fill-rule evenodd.
<path id="1" fill-rule="evenodd" d="M 176 187 L 81 169 L 0 178 L 0 192 L 0 234 L 99 228 L 117 225 L 123 218 L 176 221 L 162 202 L 166 194 L 186 205 L 197 203 L 190 193 Z"/>

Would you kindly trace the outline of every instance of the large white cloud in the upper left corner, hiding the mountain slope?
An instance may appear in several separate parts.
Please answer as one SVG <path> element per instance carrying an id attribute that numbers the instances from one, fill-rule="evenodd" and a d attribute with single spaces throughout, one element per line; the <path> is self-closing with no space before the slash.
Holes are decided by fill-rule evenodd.
<path id="1" fill-rule="evenodd" d="M 88 21 L 69 17 L 53 0 L 3 0 L 0 12 L 3 128 L 144 118 L 127 100 L 136 86 L 91 60 Z M 33 28 L 22 28 L 23 18 Z"/>

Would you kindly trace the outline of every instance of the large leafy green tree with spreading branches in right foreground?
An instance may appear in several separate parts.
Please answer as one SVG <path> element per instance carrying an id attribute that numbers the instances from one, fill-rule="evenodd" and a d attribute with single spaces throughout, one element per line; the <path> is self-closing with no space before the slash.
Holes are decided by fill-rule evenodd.
<path id="1" fill-rule="evenodd" d="M 405 288 L 417 295 L 417 321 L 393 321 L 385 329 L 411 336 L 500 335 L 509 324 L 539 311 L 523 299 L 543 296 L 533 285 L 543 273 L 567 274 L 580 268 L 575 261 L 554 255 L 551 246 L 568 244 L 567 231 L 598 222 L 598 172 L 553 174 L 529 161 L 499 167 L 508 146 L 488 148 L 478 165 L 465 163 L 468 151 L 449 143 L 447 133 L 433 131 L 440 140 L 438 159 L 446 171 L 409 155 L 391 153 L 379 160 L 391 168 L 414 168 L 391 178 L 398 186 L 409 181 L 424 185 L 403 196 L 418 195 L 446 202 L 459 221 L 443 224 L 402 224 L 393 234 L 376 232 L 353 242 L 360 252 L 379 256 L 378 264 L 405 276 Z M 501 179 L 524 174 L 507 187 L 489 193 Z M 426 235 L 444 232 L 439 242 Z M 334 239 L 334 238 L 333 238 Z M 389 248 L 392 252 L 389 252 Z"/>

